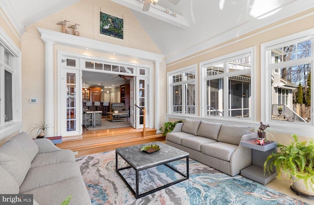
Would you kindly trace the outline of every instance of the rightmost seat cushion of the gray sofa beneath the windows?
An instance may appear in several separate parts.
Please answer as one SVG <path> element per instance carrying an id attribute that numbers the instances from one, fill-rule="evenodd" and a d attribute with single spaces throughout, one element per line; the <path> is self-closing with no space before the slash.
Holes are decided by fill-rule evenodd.
<path id="1" fill-rule="evenodd" d="M 235 152 L 238 146 L 223 142 L 203 144 L 201 152 L 209 156 L 216 157 L 225 161 L 230 161 L 231 154 Z"/>

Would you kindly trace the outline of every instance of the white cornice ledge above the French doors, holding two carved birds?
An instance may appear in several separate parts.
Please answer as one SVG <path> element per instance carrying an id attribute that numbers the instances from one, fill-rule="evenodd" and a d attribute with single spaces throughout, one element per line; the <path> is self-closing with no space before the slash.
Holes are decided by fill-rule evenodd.
<path id="1" fill-rule="evenodd" d="M 98 41 L 94 39 L 84 38 L 80 36 L 70 35 L 66 33 L 61 33 L 57 31 L 52 31 L 44 28 L 37 28 L 41 39 L 43 41 L 51 41 L 57 45 L 65 45 L 69 47 L 86 49 L 91 51 L 100 51 L 106 53 L 116 53 L 124 56 L 134 57 L 137 56 L 140 59 L 149 60 L 153 62 L 161 62 L 164 60 L 164 55 L 142 51 L 138 49 L 133 49 L 130 47 L 115 45 L 103 41 Z"/>

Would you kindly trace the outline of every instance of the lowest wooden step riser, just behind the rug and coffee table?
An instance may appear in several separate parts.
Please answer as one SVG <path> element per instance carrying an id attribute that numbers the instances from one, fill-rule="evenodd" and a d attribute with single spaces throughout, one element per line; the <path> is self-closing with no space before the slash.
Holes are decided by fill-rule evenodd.
<path id="1" fill-rule="evenodd" d="M 137 140 L 137 141 L 124 142 L 120 144 L 111 144 L 111 145 L 106 145 L 106 146 L 101 146 L 101 147 L 91 147 L 84 150 L 73 150 L 73 151 L 78 152 L 78 154 L 75 156 L 82 156 L 82 155 L 87 155 L 87 154 L 107 152 L 107 151 L 115 150 L 116 148 L 120 148 L 120 147 L 127 147 L 127 146 L 155 142 L 155 141 L 162 142 L 164 140 L 165 140 L 165 137 L 156 137 L 156 138 L 142 139 L 142 140 Z"/>

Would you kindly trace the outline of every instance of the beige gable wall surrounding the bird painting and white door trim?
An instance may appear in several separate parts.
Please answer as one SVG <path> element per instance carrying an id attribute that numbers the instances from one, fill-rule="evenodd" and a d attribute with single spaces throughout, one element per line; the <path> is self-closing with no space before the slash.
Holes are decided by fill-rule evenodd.
<path id="1" fill-rule="evenodd" d="M 124 40 L 105 37 L 98 34 L 99 11 L 124 19 Z M 122 16 L 123 15 L 123 16 Z M 146 31 L 131 13 L 130 9 L 116 4 L 110 0 L 81 0 L 68 8 L 65 8 L 46 19 L 26 27 L 26 32 L 22 36 L 22 104 L 23 104 L 23 122 L 24 130 L 39 121 L 44 120 L 44 62 L 45 51 L 44 43 L 40 38 L 37 27 L 61 32 L 61 26 L 56 23 L 68 20 L 67 26 L 79 24 L 78 31 L 81 37 L 100 40 L 112 44 L 131 47 L 134 49 L 161 53 L 155 43 L 151 40 Z M 67 28 L 71 34 L 72 29 Z M 84 55 L 93 55 L 107 59 L 122 60 L 126 62 L 137 62 L 153 66 L 152 62 L 136 60 L 118 55 L 107 53 L 93 52 L 69 48 L 66 46 L 54 46 L 54 62 L 56 62 L 57 51 L 69 51 Z M 165 64 L 163 68 L 165 70 Z M 154 70 L 152 70 L 154 74 Z M 54 90 L 56 90 L 56 63 L 54 64 Z M 38 103 L 28 103 L 29 98 L 37 98 Z M 57 93 L 55 93 L 55 106 Z M 55 115 L 56 115 L 55 107 Z M 165 113 L 163 113 L 164 115 Z M 163 123 L 163 122 L 162 122 Z M 56 122 L 55 122 L 56 125 Z M 56 130 L 56 126 L 54 126 Z M 56 133 L 56 132 L 55 132 Z"/>

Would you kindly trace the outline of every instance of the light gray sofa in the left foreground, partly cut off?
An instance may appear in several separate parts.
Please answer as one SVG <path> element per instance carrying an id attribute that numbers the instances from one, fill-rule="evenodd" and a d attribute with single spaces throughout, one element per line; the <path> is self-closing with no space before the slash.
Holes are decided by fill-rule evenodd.
<path id="1" fill-rule="evenodd" d="M 21 132 L 0 147 L 0 194 L 33 194 L 34 204 L 91 205 L 71 150 Z"/>

